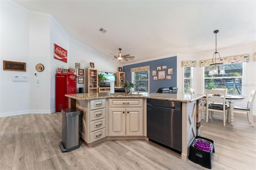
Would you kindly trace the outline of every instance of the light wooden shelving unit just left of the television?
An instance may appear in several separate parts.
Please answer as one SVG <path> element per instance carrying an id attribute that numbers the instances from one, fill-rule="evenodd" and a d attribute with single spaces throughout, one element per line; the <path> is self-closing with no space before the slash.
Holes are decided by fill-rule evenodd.
<path id="1" fill-rule="evenodd" d="M 86 68 L 85 93 L 98 93 L 98 69 Z"/>

